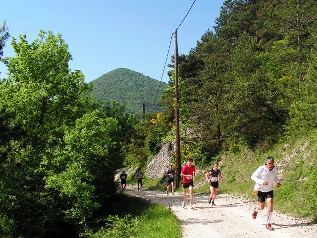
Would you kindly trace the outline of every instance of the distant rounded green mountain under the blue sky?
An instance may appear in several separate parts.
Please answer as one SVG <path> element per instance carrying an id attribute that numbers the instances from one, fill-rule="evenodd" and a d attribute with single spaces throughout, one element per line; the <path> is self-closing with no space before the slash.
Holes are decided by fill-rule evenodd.
<path id="1" fill-rule="evenodd" d="M 114 100 L 126 105 L 126 112 L 142 117 L 160 111 L 157 102 L 167 84 L 127 68 L 117 68 L 92 81 L 94 97 L 100 102 Z"/>

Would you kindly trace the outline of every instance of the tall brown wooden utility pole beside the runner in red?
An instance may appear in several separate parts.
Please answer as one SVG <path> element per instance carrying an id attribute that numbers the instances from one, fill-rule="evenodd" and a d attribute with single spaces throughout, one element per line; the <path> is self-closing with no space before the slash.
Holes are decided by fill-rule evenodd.
<path id="1" fill-rule="evenodd" d="M 179 139 L 179 112 L 178 112 L 178 48 L 177 48 L 177 30 L 175 34 L 175 51 L 174 51 L 174 72 L 175 72 L 175 145 L 176 145 L 176 187 L 180 182 L 180 139 Z"/>

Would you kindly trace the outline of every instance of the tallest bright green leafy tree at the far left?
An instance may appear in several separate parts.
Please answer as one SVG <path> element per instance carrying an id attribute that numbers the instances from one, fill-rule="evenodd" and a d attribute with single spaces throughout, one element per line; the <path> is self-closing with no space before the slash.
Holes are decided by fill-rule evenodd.
<path id="1" fill-rule="evenodd" d="M 8 78 L 0 81 L 5 135 L 0 176 L 9 188 L 6 196 L 14 201 L 2 214 L 10 214 L 19 227 L 13 229 L 16 237 L 46 233 L 57 237 L 58 224 L 66 221 L 56 206 L 65 201 L 56 196 L 52 201 L 54 196 L 46 193 L 44 181 L 52 164 L 58 163 L 52 153 L 58 145 L 55 142 L 62 138 L 64 126 L 75 125 L 77 119 L 98 108 L 93 98 L 85 97 L 91 85 L 84 82 L 81 71 L 70 71 L 71 55 L 61 35 L 40 31 L 39 37 L 31 44 L 26 35 L 19 42 L 13 38 L 16 57 L 3 59 Z"/>

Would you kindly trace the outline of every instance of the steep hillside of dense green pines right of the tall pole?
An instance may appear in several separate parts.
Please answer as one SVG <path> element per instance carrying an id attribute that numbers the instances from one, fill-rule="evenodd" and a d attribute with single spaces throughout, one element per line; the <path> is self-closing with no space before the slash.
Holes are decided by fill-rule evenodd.
<path id="1" fill-rule="evenodd" d="M 316 127 L 316 29 L 314 0 L 224 2 L 214 32 L 178 60 L 180 117 L 200 156 Z M 161 98 L 172 114 L 172 90 Z"/>

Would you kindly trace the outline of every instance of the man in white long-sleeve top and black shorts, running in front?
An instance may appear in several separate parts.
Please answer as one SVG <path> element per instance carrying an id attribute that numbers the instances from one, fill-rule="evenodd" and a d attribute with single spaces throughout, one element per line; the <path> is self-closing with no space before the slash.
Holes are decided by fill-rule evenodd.
<path id="1" fill-rule="evenodd" d="M 267 230 L 274 230 L 270 225 L 270 220 L 273 212 L 273 184 L 276 183 L 276 187 L 280 187 L 281 183 L 277 178 L 277 169 L 273 165 L 274 158 L 267 157 L 265 165 L 260 166 L 251 176 L 251 179 L 256 183 L 261 184 L 258 190 L 259 204 L 253 209 L 252 218 L 256 219 L 258 211 L 263 210 L 265 206 L 265 198 L 267 203 L 267 216 L 266 225 Z"/>

